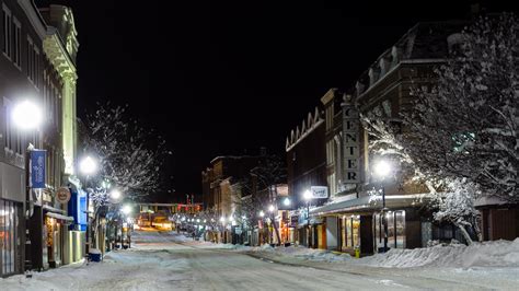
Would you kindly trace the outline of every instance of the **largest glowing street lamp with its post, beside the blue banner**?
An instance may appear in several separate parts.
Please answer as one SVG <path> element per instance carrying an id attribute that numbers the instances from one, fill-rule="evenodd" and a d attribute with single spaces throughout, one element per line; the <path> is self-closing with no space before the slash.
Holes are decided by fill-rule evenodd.
<path id="1" fill-rule="evenodd" d="M 21 130 L 34 130 L 39 127 L 43 119 L 42 110 L 34 103 L 25 100 L 16 104 L 12 112 L 11 117 L 14 126 Z M 31 151 L 33 151 L 33 146 L 27 144 L 25 150 L 25 270 L 31 269 L 32 261 L 32 247 L 31 247 L 31 233 L 28 228 L 28 219 L 32 213 L 30 210 L 31 205 Z"/>

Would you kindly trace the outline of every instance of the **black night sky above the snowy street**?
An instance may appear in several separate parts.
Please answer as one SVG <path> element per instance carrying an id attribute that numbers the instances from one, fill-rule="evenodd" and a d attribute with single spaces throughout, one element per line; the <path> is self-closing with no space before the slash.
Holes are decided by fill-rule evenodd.
<path id="1" fill-rule="evenodd" d="M 217 155 L 262 146 L 284 154 L 327 89 L 349 88 L 416 22 L 464 18 L 473 1 L 53 2 L 76 16 L 79 115 L 97 101 L 129 104 L 165 135 L 174 153 L 165 176 L 182 199 L 200 194 Z"/>

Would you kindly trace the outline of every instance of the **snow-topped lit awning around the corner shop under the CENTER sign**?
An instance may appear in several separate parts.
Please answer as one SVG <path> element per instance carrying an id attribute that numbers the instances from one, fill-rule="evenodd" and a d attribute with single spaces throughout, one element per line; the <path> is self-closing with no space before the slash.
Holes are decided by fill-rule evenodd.
<path id="1" fill-rule="evenodd" d="M 417 207 L 429 200 L 428 194 L 411 194 L 411 195 L 387 195 L 385 207 L 402 208 Z M 310 216 L 321 217 L 326 214 L 350 213 L 369 211 L 374 212 L 382 209 L 382 196 L 364 196 L 350 200 L 328 203 L 321 207 L 310 209 Z"/>

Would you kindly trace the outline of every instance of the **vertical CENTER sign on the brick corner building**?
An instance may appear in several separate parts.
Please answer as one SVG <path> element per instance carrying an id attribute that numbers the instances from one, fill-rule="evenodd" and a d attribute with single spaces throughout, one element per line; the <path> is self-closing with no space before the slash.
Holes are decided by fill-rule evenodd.
<path id="1" fill-rule="evenodd" d="M 360 183 L 360 120 L 359 113 L 351 102 L 351 96 L 346 95 L 343 105 L 343 144 L 344 170 L 346 184 Z"/>

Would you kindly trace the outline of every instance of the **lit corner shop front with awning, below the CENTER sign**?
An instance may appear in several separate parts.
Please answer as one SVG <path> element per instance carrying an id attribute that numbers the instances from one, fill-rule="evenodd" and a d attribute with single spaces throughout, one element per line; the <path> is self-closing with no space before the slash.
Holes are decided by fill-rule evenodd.
<path id="1" fill-rule="evenodd" d="M 387 196 L 385 212 L 388 221 L 388 248 L 414 248 L 426 245 L 430 230 L 424 229 L 427 213 L 422 213 L 418 206 L 427 199 L 424 195 Z M 338 249 L 360 255 L 370 255 L 383 251 L 384 228 L 379 199 L 361 197 L 323 206 L 311 211 L 312 217 L 337 217 Z M 429 228 L 430 229 L 430 228 Z M 320 234 L 319 226 L 314 233 Z M 328 240 L 330 241 L 330 240 Z M 316 242 L 321 247 L 321 241 Z"/>

